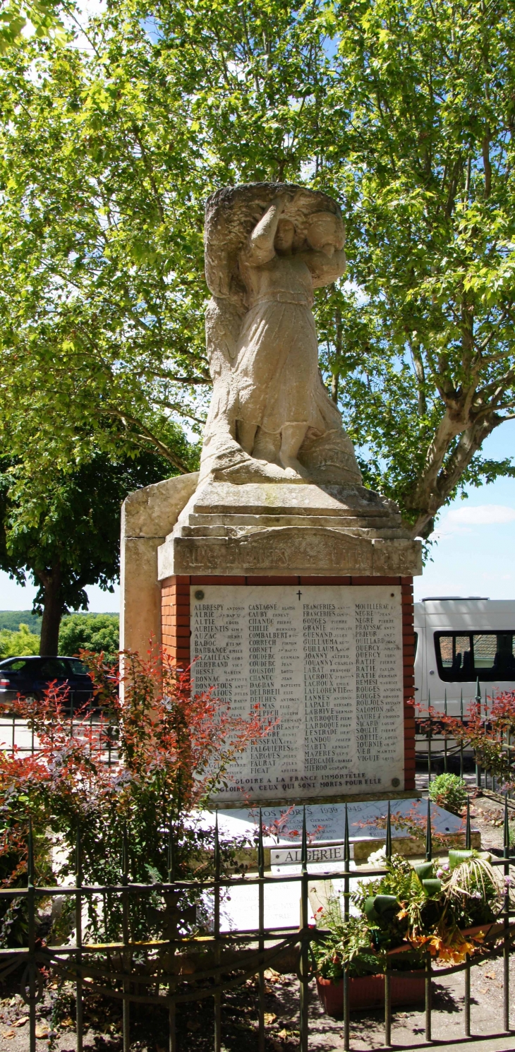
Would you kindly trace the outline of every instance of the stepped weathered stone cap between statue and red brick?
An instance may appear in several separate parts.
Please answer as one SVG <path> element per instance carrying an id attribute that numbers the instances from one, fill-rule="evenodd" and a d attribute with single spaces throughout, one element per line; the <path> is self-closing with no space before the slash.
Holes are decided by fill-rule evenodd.
<path id="1" fill-rule="evenodd" d="M 363 486 L 201 486 L 160 547 L 160 579 L 255 571 L 411 575 L 420 543 L 391 501 Z"/>

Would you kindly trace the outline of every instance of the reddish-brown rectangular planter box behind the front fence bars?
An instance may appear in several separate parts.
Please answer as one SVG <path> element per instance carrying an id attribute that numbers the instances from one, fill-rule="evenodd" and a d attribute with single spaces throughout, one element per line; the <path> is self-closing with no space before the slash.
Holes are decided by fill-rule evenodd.
<path id="1" fill-rule="evenodd" d="M 390 972 L 390 1000 L 392 1005 L 418 1005 L 424 1000 L 425 973 Z M 344 1017 L 344 980 L 324 979 L 316 976 L 316 989 L 324 1010 L 334 1019 Z M 385 1005 L 385 976 L 362 975 L 349 978 L 350 1010 L 383 1008 Z"/>

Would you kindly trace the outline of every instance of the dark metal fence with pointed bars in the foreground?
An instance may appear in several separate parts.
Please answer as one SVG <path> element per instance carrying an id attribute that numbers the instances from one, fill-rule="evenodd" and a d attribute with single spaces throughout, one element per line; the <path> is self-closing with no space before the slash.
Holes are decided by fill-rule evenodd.
<path id="1" fill-rule="evenodd" d="M 347 808 L 346 808 L 347 811 Z M 466 846 L 470 847 L 470 815 L 467 821 Z M 392 830 L 390 814 L 386 827 L 386 853 L 391 855 Z M 426 839 L 426 857 L 432 858 L 431 804 L 428 801 L 428 825 Z M 373 876 L 386 873 L 385 869 L 359 870 L 350 868 L 350 843 L 348 821 L 346 814 L 344 866 L 338 872 L 327 874 L 316 873 L 316 878 L 343 878 L 344 881 L 344 918 L 349 917 L 350 881 L 351 878 Z M 76 1048 L 82 1052 L 84 1037 L 83 1004 L 87 993 L 102 994 L 116 998 L 123 1005 L 123 1049 L 130 1049 L 130 1007 L 131 1005 L 153 1005 L 164 1008 L 168 1013 L 168 1047 L 169 1052 L 176 1052 L 178 1047 L 176 1033 L 176 1015 L 178 1006 L 188 1002 L 210 1002 L 212 1014 L 212 1048 L 221 1052 L 223 1039 L 223 1002 L 224 994 L 252 976 L 258 977 L 258 1049 L 265 1049 L 265 970 L 277 964 L 286 950 L 294 950 L 296 954 L 296 975 L 298 978 L 298 1018 L 300 1049 L 308 1052 L 310 1046 L 308 1007 L 310 994 L 309 984 L 314 978 L 315 968 L 312 955 L 312 943 L 324 938 L 323 928 L 310 927 L 309 924 L 309 882 L 312 874 L 308 864 L 308 838 L 306 834 L 306 815 L 304 814 L 302 833 L 301 872 L 286 875 L 273 875 L 265 872 L 265 851 L 263 831 L 260 822 L 258 834 L 258 866 L 256 871 L 246 876 L 224 876 L 221 873 L 221 850 L 218 834 L 218 821 L 214 830 L 213 875 L 205 881 L 173 879 L 172 859 L 168 881 L 163 884 L 132 884 L 128 871 L 128 852 L 124 848 L 120 882 L 116 885 L 87 886 L 82 881 L 81 845 L 77 844 L 77 872 L 73 887 L 39 887 L 34 883 L 34 855 L 32 833 L 28 842 L 28 877 L 25 888 L 9 888 L 0 891 L 1 896 L 24 898 L 26 902 L 28 934 L 27 945 L 19 949 L 0 949 L 0 979 L 4 980 L 18 969 L 22 970 L 21 993 L 29 1009 L 29 1050 L 36 1052 L 36 1009 L 44 994 L 44 976 L 50 972 L 58 978 L 71 980 L 76 993 Z M 503 867 L 504 875 L 509 875 L 510 867 L 515 866 L 515 858 L 510 856 L 508 803 L 504 802 L 504 848 L 502 857 L 495 858 L 495 866 Z M 265 927 L 265 888 L 268 885 L 292 884 L 301 890 L 301 924 L 297 928 Z M 224 932 L 221 930 L 221 902 L 224 890 L 238 885 L 256 887 L 259 899 L 259 926 L 249 931 Z M 191 937 L 173 937 L 169 939 L 153 939 L 146 943 L 131 939 L 129 933 L 129 908 L 133 896 L 141 902 L 145 896 L 166 896 L 188 894 L 205 891 L 212 896 L 213 925 L 208 935 Z M 111 903 L 118 901 L 121 906 L 121 938 L 110 944 L 94 944 L 83 939 L 83 908 L 88 898 L 109 896 Z M 76 938 L 73 946 L 40 945 L 36 937 L 36 918 L 38 902 L 48 897 L 65 896 L 75 906 Z M 169 901 L 169 898 L 168 898 Z M 483 947 L 488 955 L 501 956 L 503 959 L 503 1029 L 510 1032 L 510 953 L 514 948 L 515 925 L 511 923 L 513 913 L 510 909 L 510 893 L 503 896 L 502 909 L 498 923 L 487 934 Z M 488 926 L 486 926 L 488 927 Z M 194 971 L 192 974 L 178 974 L 173 969 L 173 959 L 180 957 L 185 949 L 208 949 L 210 957 L 207 968 Z M 226 951 L 230 951 L 227 957 Z M 160 962 L 159 968 L 142 970 L 142 955 L 147 962 Z M 485 959 L 486 950 L 481 959 Z M 425 967 L 425 998 L 426 1027 L 425 1040 L 432 1040 L 432 985 L 436 978 L 444 975 L 464 973 L 465 1005 L 464 1034 L 471 1033 L 471 968 L 475 960 L 467 956 L 465 963 L 447 968 L 435 968 L 431 955 L 426 956 Z M 343 979 L 344 1005 L 344 1048 L 351 1049 L 350 1035 L 350 977 L 346 967 Z M 385 1045 L 392 1041 L 392 1009 L 391 1009 L 391 975 L 385 972 Z M 250 997 L 250 995 L 249 995 Z M 249 1008 L 250 1008 L 249 1004 Z M 482 1035 L 483 1036 L 483 1035 Z"/>

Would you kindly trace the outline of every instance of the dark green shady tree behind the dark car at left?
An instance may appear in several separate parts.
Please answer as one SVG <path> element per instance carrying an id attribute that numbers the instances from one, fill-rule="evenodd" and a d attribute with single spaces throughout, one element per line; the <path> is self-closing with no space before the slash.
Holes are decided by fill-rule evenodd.
<path id="1" fill-rule="evenodd" d="M 20 583 L 28 574 L 38 586 L 33 609 L 42 614 L 41 654 L 57 654 L 63 613 L 87 610 L 87 585 L 112 591 L 120 563 L 121 503 L 128 492 L 165 473 L 166 465 L 148 456 L 111 463 L 104 453 L 75 471 L 30 482 L 19 465 L 4 469 L 2 569 Z"/>

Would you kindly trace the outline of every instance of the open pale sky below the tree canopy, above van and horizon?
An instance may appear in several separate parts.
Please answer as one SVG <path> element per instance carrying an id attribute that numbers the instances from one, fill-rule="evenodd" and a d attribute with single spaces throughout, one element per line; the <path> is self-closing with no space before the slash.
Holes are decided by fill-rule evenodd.
<path id="1" fill-rule="evenodd" d="M 486 457 L 515 457 L 515 421 L 494 431 L 482 447 Z M 415 601 L 425 595 L 488 595 L 515 598 L 515 479 L 501 479 L 469 499 L 454 501 L 437 525 L 432 562 L 415 578 Z M 87 588 L 89 609 L 118 610 L 115 594 Z M 36 589 L 21 588 L 0 572 L 0 610 L 27 610 Z"/>

